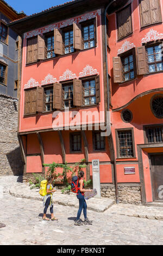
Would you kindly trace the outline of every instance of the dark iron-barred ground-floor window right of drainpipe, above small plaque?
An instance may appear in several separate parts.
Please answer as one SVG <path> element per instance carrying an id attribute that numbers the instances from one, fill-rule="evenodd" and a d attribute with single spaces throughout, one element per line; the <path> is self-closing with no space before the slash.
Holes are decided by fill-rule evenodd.
<path id="1" fill-rule="evenodd" d="M 118 131 L 118 155 L 120 157 L 134 157 L 132 131 Z"/>

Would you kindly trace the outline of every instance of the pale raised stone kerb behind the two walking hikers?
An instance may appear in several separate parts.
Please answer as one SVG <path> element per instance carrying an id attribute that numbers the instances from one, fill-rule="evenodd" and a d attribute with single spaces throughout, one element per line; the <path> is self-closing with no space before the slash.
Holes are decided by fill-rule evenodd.
<path id="1" fill-rule="evenodd" d="M 23 193 L 20 193 L 23 191 Z M 9 188 L 9 193 L 11 196 L 17 198 L 26 198 L 42 201 L 42 197 L 39 195 L 39 189 L 30 190 L 28 185 L 16 185 Z M 31 194 L 33 193 L 33 195 Z M 61 192 L 55 192 L 53 197 L 54 204 L 71 206 L 78 209 L 78 199 L 75 194 L 62 194 Z M 115 204 L 115 200 L 105 199 L 105 198 L 91 198 L 87 200 L 87 209 L 96 211 L 96 212 L 104 212 L 108 210 L 112 205 Z"/>

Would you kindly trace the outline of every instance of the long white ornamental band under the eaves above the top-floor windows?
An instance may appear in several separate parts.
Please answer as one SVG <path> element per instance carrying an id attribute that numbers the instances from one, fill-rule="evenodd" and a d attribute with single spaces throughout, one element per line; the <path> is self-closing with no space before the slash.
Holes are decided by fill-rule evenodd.
<path id="1" fill-rule="evenodd" d="M 32 36 L 42 35 L 44 33 L 53 31 L 54 28 L 63 28 L 63 27 L 71 26 L 71 25 L 73 25 L 73 22 L 78 23 L 78 22 L 90 20 L 90 19 L 95 18 L 97 16 L 97 14 L 99 16 L 101 15 L 101 9 L 99 9 L 97 11 L 93 11 L 92 13 L 87 13 L 87 14 L 84 14 L 84 15 L 81 15 L 78 17 L 74 17 L 72 19 L 67 19 L 67 20 L 61 21 L 59 23 L 53 23 L 49 26 L 42 27 L 42 28 L 36 29 L 34 31 L 24 33 L 24 38 L 31 38 Z"/>

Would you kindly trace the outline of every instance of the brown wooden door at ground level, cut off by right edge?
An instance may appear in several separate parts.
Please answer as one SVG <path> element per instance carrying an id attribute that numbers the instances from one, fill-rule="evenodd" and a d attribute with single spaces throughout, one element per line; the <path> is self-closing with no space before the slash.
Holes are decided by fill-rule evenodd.
<path id="1" fill-rule="evenodd" d="M 151 155 L 153 199 L 163 201 L 163 154 Z"/>

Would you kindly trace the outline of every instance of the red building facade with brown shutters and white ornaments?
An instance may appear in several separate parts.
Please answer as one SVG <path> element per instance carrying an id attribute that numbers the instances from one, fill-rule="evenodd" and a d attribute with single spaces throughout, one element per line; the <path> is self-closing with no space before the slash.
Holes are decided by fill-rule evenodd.
<path id="1" fill-rule="evenodd" d="M 161 201 L 162 1 L 73 1 L 10 26 L 23 36 L 24 175 L 85 159 L 89 179 L 98 159 L 103 196 Z"/>

